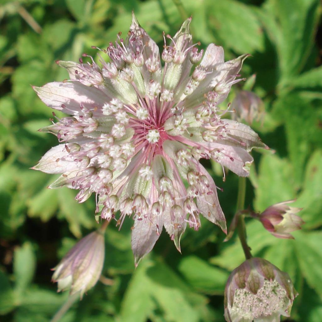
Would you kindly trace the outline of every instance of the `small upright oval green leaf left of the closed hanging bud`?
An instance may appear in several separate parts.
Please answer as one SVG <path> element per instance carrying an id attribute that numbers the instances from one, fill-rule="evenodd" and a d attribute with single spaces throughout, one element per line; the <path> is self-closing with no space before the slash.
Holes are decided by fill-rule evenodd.
<path id="1" fill-rule="evenodd" d="M 36 256 L 30 242 L 14 250 L 15 289 L 21 293 L 31 283 L 36 268 Z"/>

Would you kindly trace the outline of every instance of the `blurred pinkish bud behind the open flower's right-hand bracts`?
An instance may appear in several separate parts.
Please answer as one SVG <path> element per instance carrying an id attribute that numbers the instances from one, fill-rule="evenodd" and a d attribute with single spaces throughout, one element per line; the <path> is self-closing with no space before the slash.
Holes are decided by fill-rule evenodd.
<path id="1" fill-rule="evenodd" d="M 263 120 L 265 112 L 263 101 L 248 90 L 242 90 L 236 95 L 231 109 L 236 111 L 234 118 L 237 121 L 245 120 L 248 124 L 252 124 L 254 120 Z"/>

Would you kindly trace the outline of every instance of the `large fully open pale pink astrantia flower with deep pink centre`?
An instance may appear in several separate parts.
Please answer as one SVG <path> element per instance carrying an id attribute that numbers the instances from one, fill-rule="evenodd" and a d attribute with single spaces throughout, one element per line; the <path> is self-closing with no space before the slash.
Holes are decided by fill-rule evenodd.
<path id="1" fill-rule="evenodd" d="M 164 37 L 164 67 L 156 43 L 133 16 L 127 38 L 118 35 L 103 50 L 110 62 L 59 61 L 70 80 L 34 88 L 46 105 L 71 115 L 42 129 L 61 144 L 34 169 L 61 173 L 50 188 L 78 189 L 79 202 L 95 193 L 102 219 L 119 210 L 121 225 L 133 214 L 136 263 L 163 227 L 180 250 L 186 225 L 200 227 L 200 213 L 225 232 L 216 185 L 199 159 L 212 158 L 246 176 L 249 151 L 265 147 L 248 126 L 221 119 L 218 108 L 240 81 L 247 55 L 224 62 L 222 47 L 198 51 L 190 21 L 173 38 Z"/>

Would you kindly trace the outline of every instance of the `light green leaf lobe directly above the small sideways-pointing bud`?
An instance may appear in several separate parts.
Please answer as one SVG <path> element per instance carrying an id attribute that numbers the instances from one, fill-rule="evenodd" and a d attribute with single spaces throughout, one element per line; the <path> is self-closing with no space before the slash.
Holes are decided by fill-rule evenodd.
<path id="1" fill-rule="evenodd" d="M 272 204 L 295 198 L 292 168 L 286 159 L 266 154 L 262 157 L 255 190 L 254 207 L 264 211 Z"/>

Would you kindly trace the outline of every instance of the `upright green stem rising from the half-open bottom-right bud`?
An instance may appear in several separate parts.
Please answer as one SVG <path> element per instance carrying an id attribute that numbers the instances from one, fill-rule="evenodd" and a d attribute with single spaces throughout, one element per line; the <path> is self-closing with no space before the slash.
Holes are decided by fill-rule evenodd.
<path id="1" fill-rule="evenodd" d="M 238 214 L 241 210 L 244 209 L 245 204 L 245 194 L 246 194 L 246 178 L 245 177 L 239 177 L 238 181 L 238 195 L 237 195 L 237 208 L 236 208 L 236 214 L 237 214 L 237 232 L 238 237 L 242 244 L 242 249 L 244 251 L 246 259 L 252 258 L 250 247 L 247 245 L 247 237 L 246 237 L 246 227 L 245 227 L 245 221 L 244 221 L 244 215 Z"/>

